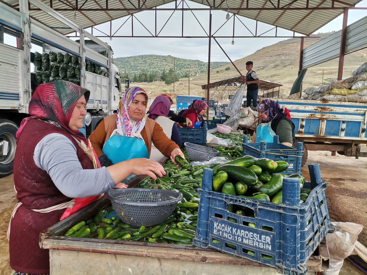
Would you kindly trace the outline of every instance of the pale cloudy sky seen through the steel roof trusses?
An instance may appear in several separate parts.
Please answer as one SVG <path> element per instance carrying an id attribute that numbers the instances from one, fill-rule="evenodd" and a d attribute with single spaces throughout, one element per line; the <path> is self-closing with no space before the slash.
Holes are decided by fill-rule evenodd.
<path id="1" fill-rule="evenodd" d="M 187 1 L 190 8 L 204 7 L 201 4 Z M 169 3 L 160 7 L 174 7 L 174 3 Z M 367 7 L 367 0 L 361 1 L 356 7 Z M 172 11 L 160 11 L 157 17 L 157 29 L 163 26 L 169 18 Z M 194 11 L 195 16 L 208 32 L 208 12 Z M 365 17 L 367 10 L 349 10 L 348 25 Z M 150 32 L 154 33 L 155 15 L 154 11 L 143 11 L 135 16 L 141 21 Z M 224 22 L 226 22 L 226 12 L 214 11 L 212 12 L 212 33 L 217 30 Z M 255 30 L 255 21 L 252 19 L 239 17 L 241 21 L 252 31 Z M 327 25 L 321 27 L 315 33 L 338 31 L 342 27 L 342 15 L 329 22 Z M 113 21 L 112 33 L 122 25 L 126 18 L 120 18 Z M 184 36 L 202 36 L 205 32 L 200 27 L 199 23 L 193 17 L 191 12 L 184 12 Z M 237 32 L 247 32 L 245 27 L 236 21 Z M 258 23 L 258 33 L 266 32 L 273 26 Z M 97 26 L 97 29 L 102 32 L 109 33 L 109 23 Z M 87 29 L 90 31 L 90 29 Z M 231 18 L 221 30 L 218 31 L 217 36 L 231 35 L 233 32 L 233 19 Z M 93 32 L 97 35 L 97 31 Z M 134 19 L 134 35 L 149 35 L 149 33 Z M 102 35 L 102 34 L 101 34 Z M 128 21 L 116 35 L 131 35 L 131 23 Z M 170 21 L 161 31 L 160 35 L 177 35 L 181 36 L 181 12 L 176 11 L 172 15 Z M 278 28 L 278 35 L 291 36 L 292 32 L 288 30 L 281 30 Z M 297 34 L 296 34 L 297 35 Z M 114 57 L 156 54 L 156 55 L 171 55 L 178 58 L 197 59 L 204 62 L 208 61 L 208 38 L 100 38 L 111 45 L 114 51 Z M 224 48 L 226 53 L 232 60 L 243 58 L 250 55 L 263 47 L 275 44 L 285 38 L 235 38 L 234 45 L 231 44 L 232 38 L 218 38 L 219 44 Z M 193 50 L 195 48 L 195 50 Z M 228 58 L 223 54 L 214 40 L 211 41 L 211 62 L 213 61 L 228 61 Z"/>

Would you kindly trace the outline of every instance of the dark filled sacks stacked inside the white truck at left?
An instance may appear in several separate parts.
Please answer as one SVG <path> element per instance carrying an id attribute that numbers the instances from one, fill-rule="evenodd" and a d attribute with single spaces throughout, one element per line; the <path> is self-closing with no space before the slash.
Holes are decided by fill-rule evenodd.
<path id="1" fill-rule="evenodd" d="M 106 51 L 100 52 L 100 54 L 107 56 Z M 44 54 L 35 52 L 33 63 L 36 85 L 56 80 L 67 80 L 80 85 L 80 58 L 75 55 L 62 54 L 61 52 Z M 86 61 L 86 70 L 107 76 L 107 69 L 90 61 Z"/>

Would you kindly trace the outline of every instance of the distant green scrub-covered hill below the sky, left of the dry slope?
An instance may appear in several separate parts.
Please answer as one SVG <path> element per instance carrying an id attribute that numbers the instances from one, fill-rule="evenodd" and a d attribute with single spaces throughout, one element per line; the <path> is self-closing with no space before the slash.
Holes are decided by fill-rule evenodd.
<path id="1" fill-rule="evenodd" d="M 129 76 L 134 73 L 141 73 L 143 70 L 146 72 L 168 71 L 174 66 L 174 59 L 176 59 L 175 71 L 178 76 L 184 76 L 190 71 L 191 76 L 196 74 L 206 73 L 208 68 L 208 62 L 202 62 L 200 60 L 190 60 L 175 58 L 170 55 L 136 55 L 128 57 L 114 58 L 115 65 L 119 68 L 120 72 L 127 72 Z M 210 66 L 213 69 L 224 66 L 228 62 L 211 62 Z"/>

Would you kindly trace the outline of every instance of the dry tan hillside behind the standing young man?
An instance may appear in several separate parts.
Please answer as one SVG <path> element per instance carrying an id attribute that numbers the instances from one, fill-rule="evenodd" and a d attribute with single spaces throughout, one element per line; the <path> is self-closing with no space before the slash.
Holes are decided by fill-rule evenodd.
<path id="1" fill-rule="evenodd" d="M 305 39 L 304 47 L 308 47 L 320 39 L 327 37 L 331 33 L 316 34 L 321 38 Z M 248 60 L 254 62 L 254 70 L 257 72 L 261 80 L 267 80 L 274 83 L 280 83 L 281 97 L 287 97 L 290 89 L 297 78 L 298 59 L 299 59 L 300 39 L 291 38 L 280 41 L 268 47 L 264 47 L 253 54 L 234 61 L 236 66 L 241 70 L 242 74 L 246 74 L 245 63 Z M 177 59 L 176 59 L 177 60 Z M 348 54 L 344 58 L 343 77 L 350 77 L 353 70 L 357 69 L 362 63 L 367 61 L 367 49 Z M 337 80 L 339 59 L 335 58 L 328 62 L 310 67 L 306 73 L 303 82 L 303 88 L 322 85 L 333 80 Z M 226 67 L 230 70 L 225 70 Z M 218 72 L 218 73 L 217 73 Z M 221 67 L 212 69 L 210 72 L 210 82 L 239 76 L 239 73 L 232 64 L 225 64 Z M 201 89 L 201 85 L 207 83 L 207 74 L 201 76 L 193 76 L 190 81 L 190 95 L 205 96 L 205 91 Z M 173 92 L 173 84 L 166 85 L 164 83 L 134 83 L 134 85 L 144 87 L 151 97 L 159 94 L 169 94 L 175 100 L 175 95 L 188 94 L 188 78 L 181 78 L 175 84 L 175 92 Z M 213 92 L 210 98 L 218 99 L 221 103 L 228 102 L 228 94 L 224 92 Z"/>

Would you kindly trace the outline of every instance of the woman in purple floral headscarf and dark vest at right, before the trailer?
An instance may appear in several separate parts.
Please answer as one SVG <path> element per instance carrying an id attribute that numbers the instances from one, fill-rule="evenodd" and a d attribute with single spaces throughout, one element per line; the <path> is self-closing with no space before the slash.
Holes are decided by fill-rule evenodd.
<path id="1" fill-rule="evenodd" d="M 252 142 L 273 142 L 273 136 L 279 136 L 279 142 L 292 146 L 295 141 L 294 124 L 279 104 L 270 99 L 264 99 L 257 105 L 259 121 Z"/>

